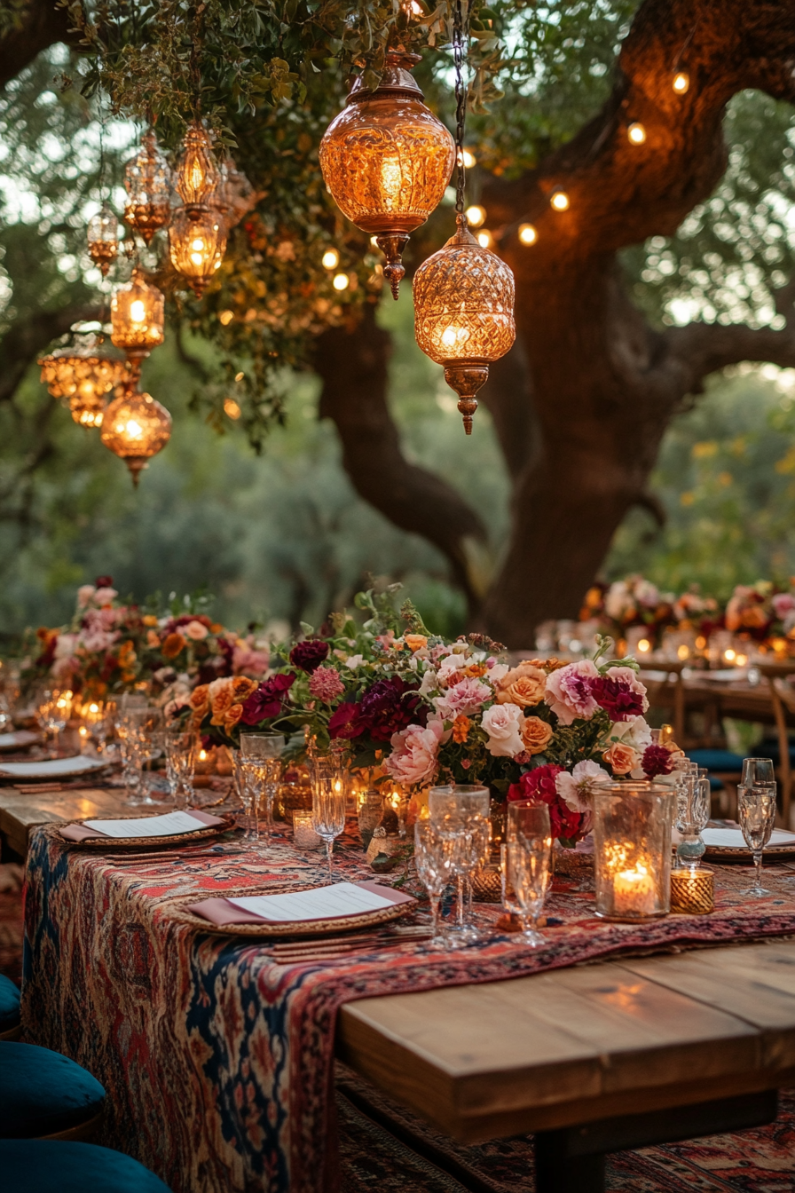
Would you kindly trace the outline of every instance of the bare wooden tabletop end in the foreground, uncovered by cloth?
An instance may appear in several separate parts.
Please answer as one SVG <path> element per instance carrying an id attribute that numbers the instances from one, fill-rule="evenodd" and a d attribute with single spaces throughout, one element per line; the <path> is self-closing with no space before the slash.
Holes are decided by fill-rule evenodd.
<path id="1" fill-rule="evenodd" d="M 793 1080 L 794 975 L 795 944 L 776 944 L 365 999 L 339 1052 L 459 1139 L 548 1130 Z"/>

